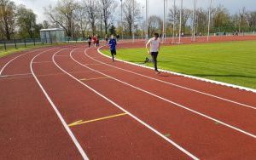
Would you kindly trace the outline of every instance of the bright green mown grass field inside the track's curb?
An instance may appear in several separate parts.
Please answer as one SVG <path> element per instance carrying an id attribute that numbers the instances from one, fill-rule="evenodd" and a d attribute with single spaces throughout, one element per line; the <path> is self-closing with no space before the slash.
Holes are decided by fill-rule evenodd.
<path id="1" fill-rule="evenodd" d="M 117 52 L 118 59 L 134 63 L 148 56 L 146 49 Z M 256 89 L 256 41 L 165 46 L 158 60 L 160 69 Z"/>

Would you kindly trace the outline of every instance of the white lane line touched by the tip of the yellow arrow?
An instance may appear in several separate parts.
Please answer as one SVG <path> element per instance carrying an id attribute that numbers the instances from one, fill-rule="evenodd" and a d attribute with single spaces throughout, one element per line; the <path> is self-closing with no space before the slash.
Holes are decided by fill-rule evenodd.
<path id="1" fill-rule="evenodd" d="M 61 52 L 62 50 L 64 49 L 61 49 L 59 51 L 57 51 L 56 53 L 59 53 Z M 46 51 L 40 53 L 40 54 L 44 54 Z M 57 107 L 55 106 L 54 102 L 49 98 L 49 94 L 47 94 L 47 92 L 45 91 L 44 87 L 42 86 L 42 84 L 39 82 L 38 80 L 38 77 L 35 75 L 34 71 L 33 71 L 33 68 L 32 68 L 32 62 L 33 60 L 35 60 L 38 55 L 40 54 L 37 54 L 32 60 L 31 60 L 31 63 L 30 63 L 30 70 L 32 71 L 32 75 L 33 77 L 35 78 L 35 80 L 37 81 L 38 83 L 38 86 L 40 87 L 40 89 L 43 91 L 46 99 L 49 101 L 49 104 L 52 106 L 52 108 L 55 110 L 55 113 L 57 114 L 57 116 L 59 117 L 59 119 L 61 120 L 61 123 L 62 125 L 64 126 L 64 128 L 67 130 L 67 133 L 69 134 L 69 136 L 71 137 L 71 139 L 73 140 L 73 143 L 75 144 L 75 146 L 77 146 L 81 156 L 84 158 L 84 160 L 89 160 L 89 157 L 87 157 L 87 155 L 85 154 L 82 146 L 80 146 L 79 144 L 79 141 L 76 139 L 76 137 L 74 136 L 73 132 L 71 131 L 71 129 L 68 127 L 67 123 L 65 122 L 64 118 L 61 116 L 61 113 L 60 111 L 58 111 Z"/>

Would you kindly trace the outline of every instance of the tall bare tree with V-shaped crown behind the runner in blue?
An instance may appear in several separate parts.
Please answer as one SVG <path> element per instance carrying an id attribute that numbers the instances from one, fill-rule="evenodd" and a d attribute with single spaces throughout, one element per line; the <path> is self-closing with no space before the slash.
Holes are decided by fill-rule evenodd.
<path id="1" fill-rule="evenodd" d="M 110 20 L 113 17 L 113 11 L 117 7 L 117 3 L 114 0 L 98 0 L 99 9 L 104 23 L 105 34 L 108 34 L 108 27 L 110 26 Z"/>

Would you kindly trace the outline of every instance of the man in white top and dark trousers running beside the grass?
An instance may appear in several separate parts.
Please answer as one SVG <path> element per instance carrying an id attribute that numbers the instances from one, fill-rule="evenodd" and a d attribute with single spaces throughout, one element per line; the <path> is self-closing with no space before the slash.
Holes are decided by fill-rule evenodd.
<path id="1" fill-rule="evenodd" d="M 150 44 L 150 51 L 148 49 L 148 45 Z M 146 49 L 148 50 L 148 54 L 151 55 L 153 63 L 154 63 L 154 71 L 157 74 L 160 74 L 160 71 L 157 69 L 157 56 L 160 50 L 160 38 L 158 33 L 154 33 L 154 37 L 148 40 L 146 44 Z"/>

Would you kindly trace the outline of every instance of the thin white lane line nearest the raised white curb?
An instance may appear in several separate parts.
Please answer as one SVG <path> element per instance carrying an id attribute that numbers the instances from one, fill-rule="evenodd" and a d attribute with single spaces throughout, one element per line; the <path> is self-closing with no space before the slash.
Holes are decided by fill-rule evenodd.
<path id="1" fill-rule="evenodd" d="M 98 51 L 98 52 L 99 52 L 100 54 L 102 54 L 101 51 Z M 90 59 L 92 59 L 92 60 L 96 60 L 96 59 L 94 59 L 93 57 L 91 57 L 91 56 L 88 55 L 88 54 L 85 54 L 85 55 L 86 55 L 87 57 L 89 57 Z M 103 54 L 102 54 L 102 55 L 103 55 Z M 104 54 L 104 55 L 105 55 L 105 54 Z M 106 56 L 106 55 L 105 55 L 105 56 Z M 108 56 L 107 56 L 107 57 L 108 57 Z M 108 57 L 108 58 L 109 58 L 109 57 Z M 107 64 L 107 63 L 102 62 L 101 60 L 96 60 L 96 61 L 99 62 L 99 63 L 102 63 L 102 64 L 104 64 L 104 65 L 107 65 L 107 66 L 112 66 L 112 65 L 109 65 L 109 64 Z M 249 105 L 243 104 L 243 103 L 241 103 L 241 102 L 237 102 L 237 101 L 235 101 L 235 100 L 229 100 L 229 99 L 225 99 L 225 98 L 219 97 L 219 96 L 217 96 L 217 95 L 207 94 L 207 93 L 205 93 L 205 92 L 202 92 L 202 91 L 199 91 L 199 90 L 196 90 L 196 89 L 189 89 L 189 88 L 187 88 L 187 87 L 184 87 L 184 86 L 181 86 L 181 85 L 178 85 L 178 84 L 175 84 L 175 83 L 168 83 L 168 82 L 166 82 L 166 81 L 162 81 L 162 80 L 157 79 L 157 78 L 154 78 L 154 77 L 148 77 L 148 76 L 146 76 L 146 75 L 143 75 L 143 74 L 140 74 L 140 73 L 137 73 L 137 72 L 134 72 L 134 71 L 125 70 L 124 68 L 120 68 L 120 67 L 118 67 L 118 66 L 112 66 L 112 67 L 113 67 L 113 68 L 116 68 L 116 69 L 119 69 L 119 70 L 122 70 L 122 71 L 130 72 L 130 73 L 132 73 L 132 74 L 135 74 L 135 75 L 138 75 L 138 76 L 141 76 L 141 77 L 147 77 L 147 78 L 149 78 L 149 79 L 158 81 L 158 82 L 160 82 L 160 83 L 166 83 L 166 84 L 172 85 L 172 86 L 177 87 L 177 88 L 180 88 L 180 89 L 186 89 L 186 90 L 189 90 L 189 91 L 198 93 L 198 94 L 204 94 L 204 95 L 207 95 L 207 96 L 216 98 L 216 99 L 218 99 L 218 100 L 228 101 L 228 102 L 230 102 L 230 103 L 234 103 L 234 104 L 239 105 L 239 106 L 245 106 L 245 107 L 247 107 L 247 108 L 256 110 L 256 107 L 255 107 L 255 106 L 249 106 Z"/>

